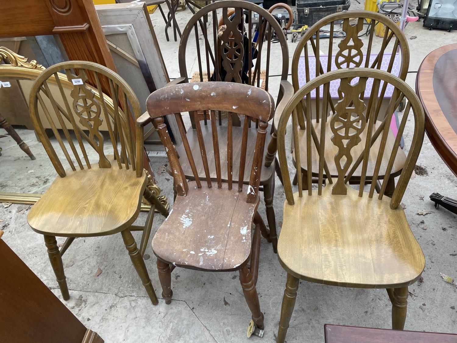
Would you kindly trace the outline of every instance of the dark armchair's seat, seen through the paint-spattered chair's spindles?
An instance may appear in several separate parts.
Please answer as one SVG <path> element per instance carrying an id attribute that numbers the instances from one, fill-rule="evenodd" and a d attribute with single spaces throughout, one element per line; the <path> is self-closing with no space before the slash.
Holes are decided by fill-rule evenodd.
<path id="1" fill-rule="evenodd" d="M 205 147 L 206 147 L 206 152 L 207 152 L 207 159 L 208 159 L 208 166 L 209 166 L 209 172 L 211 175 L 211 180 L 216 181 L 216 166 L 214 164 L 214 150 L 212 149 L 213 147 L 213 132 L 211 129 L 211 124 L 208 121 L 207 125 L 202 125 L 202 135 L 203 135 L 203 140 L 205 142 Z M 218 139 L 221 142 L 226 142 L 227 141 L 227 121 L 223 123 L 222 125 L 218 125 Z M 269 126 L 267 128 L 267 132 L 271 129 Z M 187 130 L 187 140 L 189 141 L 189 145 L 191 147 L 192 151 L 200 151 L 200 146 L 198 145 L 198 134 L 197 130 Z M 241 138 L 243 136 L 243 127 L 233 127 L 233 182 L 238 182 L 239 180 L 239 161 L 240 161 L 240 151 L 241 151 Z M 252 164 L 252 159 L 254 158 L 254 148 L 255 148 L 255 139 L 257 136 L 257 129 L 255 129 L 255 124 L 253 123 L 251 128 L 248 130 L 248 145 L 247 145 L 247 150 L 246 150 L 246 163 L 245 163 L 245 168 L 244 168 L 244 183 L 247 184 L 249 183 L 249 177 L 251 173 L 251 164 Z M 267 134 L 266 139 L 265 139 L 265 145 L 268 145 L 271 140 L 271 135 Z M 222 159 L 222 156 L 227 156 L 227 145 L 226 144 L 221 144 L 219 145 L 220 149 L 220 156 L 221 156 L 221 177 L 223 182 L 228 181 L 227 177 L 227 160 Z M 181 144 L 179 147 L 176 148 L 178 155 L 179 155 L 179 161 L 182 166 L 182 171 L 186 175 L 186 178 L 188 180 L 194 180 L 194 176 L 191 170 L 191 166 L 189 164 L 189 161 L 187 159 L 186 155 L 186 150 L 184 149 L 184 146 Z M 265 155 L 267 153 L 267 150 L 265 149 L 263 152 L 263 161 L 265 161 Z M 197 167 L 198 175 L 201 180 L 206 180 L 204 177 L 205 171 L 203 168 L 203 161 L 202 161 L 202 156 L 199 154 L 194 155 L 195 159 L 195 165 Z M 260 185 L 265 185 L 271 180 L 271 177 L 273 177 L 273 174 L 275 172 L 275 166 L 268 166 L 266 167 L 264 164 L 262 164 L 262 171 L 260 174 Z M 168 173 L 172 175 L 172 171 L 170 169 L 170 166 L 168 166 Z"/>

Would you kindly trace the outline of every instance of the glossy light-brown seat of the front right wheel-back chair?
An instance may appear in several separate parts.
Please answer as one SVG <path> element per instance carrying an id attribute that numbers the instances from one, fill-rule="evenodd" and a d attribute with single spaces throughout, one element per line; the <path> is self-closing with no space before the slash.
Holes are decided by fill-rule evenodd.
<path id="1" fill-rule="evenodd" d="M 401 207 L 390 198 L 347 195 L 293 195 L 284 204 L 278 240 L 283 268 L 297 278 L 320 284 L 360 288 L 397 288 L 413 284 L 425 258 Z"/>

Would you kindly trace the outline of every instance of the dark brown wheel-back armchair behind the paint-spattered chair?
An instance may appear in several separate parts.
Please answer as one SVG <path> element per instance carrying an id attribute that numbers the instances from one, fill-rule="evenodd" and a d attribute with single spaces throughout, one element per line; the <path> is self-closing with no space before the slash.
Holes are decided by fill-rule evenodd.
<path id="1" fill-rule="evenodd" d="M 257 13 L 258 16 L 255 17 L 254 13 Z M 209 15 L 212 16 L 212 24 L 211 20 L 208 20 Z M 221 27 L 219 27 L 219 21 L 222 21 Z M 273 39 L 273 31 L 277 33 L 276 44 Z M 200 50 L 200 39 L 203 39 L 204 53 Z M 194 44 L 195 46 L 192 46 Z M 271 49 L 275 45 L 280 53 L 275 55 L 277 59 L 275 58 L 274 63 L 270 63 Z M 279 114 L 293 95 L 292 85 L 287 81 L 289 57 L 286 38 L 278 21 L 271 13 L 258 5 L 247 1 L 223 0 L 208 4 L 197 11 L 187 23 L 181 37 L 178 55 L 181 77 L 171 81 L 169 85 L 188 82 L 190 69 L 194 68 L 192 67 L 194 59 L 188 59 L 187 51 L 193 51 L 194 48 L 197 51 L 197 67 L 195 68 L 198 68 L 198 76 L 195 77 L 194 75 L 192 80 L 197 82 L 213 80 L 244 83 L 252 85 L 252 91 L 254 91 L 254 87 L 262 87 L 266 91 L 270 91 L 272 88 L 272 91 L 278 91 L 276 113 Z M 247 53 L 249 50 L 251 50 L 250 54 Z M 278 81 L 274 82 L 276 79 L 270 80 L 270 75 L 280 76 L 276 77 Z M 227 96 L 231 96 L 231 94 L 227 94 Z M 216 113 L 217 127 L 221 134 L 223 132 L 226 134 L 228 130 L 227 117 L 227 112 L 217 111 Z M 203 122 L 202 137 L 205 142 L 211 144 L 212 128 L 208 125 L 208 118 L 209 113 L 207 111 L 200 111 L 198 120 Z M 191 125 L 192 128 L 187 131 L 187 139 L 191 150 L 198 151 L 198 131 L 193 116 L 191 116 Z M 233 118 L 233 125 L 234 132 L 238 132 L 241 123 L 237 118 Z M 250 131 L 248 146 L 253 146 L 255 145 L 255 129 L 250 126 L 248 131 Z M 279 165 L 277 161 L 275 162 L 276 134 L 272 131 L 271 126 L 268 131 L 270 134 L 266 136 L 268 148 L 264 152 L 265 165 L 262 166 L 260 189 L 264 192 L 266 216 L 271 231 L 273 250 L 276 252 L 276 219 L 273 209 L 275 169 L 280 179 L 281 175 Z M 234 136 L 233 142 L 234 154 L 239 154 L 241 141 L 237 136 Z M 178 146 L 177 151 L 182 159 L 181 166 L 184 175 L 187 179 L 193 180 L 191 165 L 186 161 L 184 145 Z M 253 152 L 253 149 L 247 150 L 247 160 L 253 157 Z M 208 152 L 208 154 L 208 158 L 213 159 L 212 152 Z M 201 161 L 195 163 L 197 170 L 202 171 Z M 224 167 L 222 167 L 221 172 L 223 180 L 227 181 L 227 171 Z M 171 173 L 170 169 L 169 173 Z M 208 175 L 211 180 L 216 180 L 216 170 L 213 166 L 209 166 Z M 202 179 L 205 178 L 206 175 L 202 176 Z M 233 180 L 238 182 L 238 176 L 234 176 Z M 249 179 L 244 178 L 243 182 L 247 184 Z"/>

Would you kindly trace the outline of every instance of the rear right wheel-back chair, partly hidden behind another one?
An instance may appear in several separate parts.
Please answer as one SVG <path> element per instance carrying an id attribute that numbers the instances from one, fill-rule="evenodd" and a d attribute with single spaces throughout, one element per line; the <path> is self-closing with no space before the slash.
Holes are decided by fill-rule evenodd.
<path id="1" fill-rule="evenodd" d="M 364 26 L 365 20 L 369 21 L 367 28 Z M 380 42 L 377 41 L 376 37 L 373 39 L 375 27 L 377 25 L 386 26 L 386 34 L 382 39 L 379 38 Z M 329 32 L 320 32 L 323 27 L 329 27 Z M 344 38 L 339 40 L 334 38 L 334 35 L 338 34 L 340 37 L 341 35 L 344 35 Z M 328 38 L 327 35 L 329 36 Z M 324 36 L 325 39 L 320 39 L 322 36 Z M 363 36 L 368 36 L 368 42 L 362 40 L 361 37 Z M 338 45 L 335 46 L 337 43 Z M 397 54 L 399 50 L 401 51 L 401 54 Z M 323 52 L 323 54 L 321 54 L 321 52 Z M 397 74 L 400 79 L 405 80 L 409 67 L 409 46 L 404 33 L 390 18 L 371 11 L 350 11 L 335 13 L 318 21 L 306 32 L 297 44 L 292 59 L 292 85 L 294 90 L 298 91 L 301 86 L 308 83 L 314 77 L 327 73 L 330 70 L 358 67 L 385 70 L 389 73 Z M 335 87 L 330 87 L 328 91 L 330 92 L 329 98 L 337 96 Z M 314 169 L 312 171 L 314 177 L 313 183 L 317 182 L 317 166 L 319 165 L 317 161 L 316 133 L 319 133 L 322 124 L 319 116 L 316 116 L 316 113 L 319 113 L 320 104 L 317 99 L 322 96 L 325 96 L 322 94 L 322 90 L 316 90 L 312 95 L 313 99 L 311 102 L 313 105 L 311 111 L 313 120 L 310 128 L 313 142 L 310 149 L 312 151 L 311 158 L 314 162 Z M 393 117 L 393 111 L 392 113 L 386 113 L 388 103 L 387 97 L 392 96 L 389 91 L 386 91 L 386 84 L 382 86 L 379 96 L 382 101 L 378 102 L 375 118 L 377 118 L 378 121 L 383 120 L 382 116 L 379 115 L 379 113 L 383 113 L 388 115 L 389 118 L 393 118 L 393 122 L 395 122 L 396 117 Z M 386 98 L 386 101 L 383 101 L 384 98 Z M 313 104 L 313 102 L 315 103 Z M 329 102 L 329 105 L 333 113 L 335 113 L 333 103 Z M 306 155 L 307 130 L 305 129 L 306 104 L 304 100 L 301 102 L 301 106 L 297 108 L 297 111 L 299 144 L 303 154 Z M 276 117 L 275 123 L 277 123 L 278 120 L 279 117 Z M 329 124 L 328 121 L 325 123 L 327 123 L 327 125 Z M 375 123 L 375 125 L 379 125 L 379 123 Z M 393 125 L 393 127 L 396 127 L 396 123 Z M 327 127 L 325 131 L 327 132 L 326 143 L 329 145 L 331 130 Z M 389 134 L 387 144 L 392 145 L 394 140 L 394 134 Z M 358 148 L 355 147 L 354 151 L 360 152 L 360 150 L 357 149 Z M 329 154 L 326 158 L 331 159 L 331 155 L 335 152 L 335 150 L 326 150 L 326 153 Z M 295 157 L 293 158 L 295 159 Z M 375 161 L 376 158 L 376 155 L 372 155 L 371 161 Z M 395 188 L 394 178 L 400 175 L 405 163 L 405 158 L 404 151 L 398 149 L 393 170 L 391 171 L 386 187 L 386 195 L 388 196 L 392 196 L 393 189 Z M 372 164 L 373 163 L 370 163 L 369 165 Z M 385 166 L 387 166 L 387 164 L 388 155 L 384 155 L 378 178 L 382 179 L 384 177 Z M 332 177 L 338 175 L 338 171 L 333 168 L 333 166 L 329 166 L 329 172 Z M 306 164 L 302 161 L 302 185 L 304 190 L 308 187 L 306 182 L 307 174 L 308 169 Z M 370 182 L 372 175 L 373 170 L 369 167 L 366 177 L 367 182 Z M 353 173 L 350 183 L 358 183 L 360 177 L 361 168 L 358 168 Z M 296 178 L 293 183 L 297 184 Z M 377 188 L 378 187 L 379 185 L 377 185 Z"/>

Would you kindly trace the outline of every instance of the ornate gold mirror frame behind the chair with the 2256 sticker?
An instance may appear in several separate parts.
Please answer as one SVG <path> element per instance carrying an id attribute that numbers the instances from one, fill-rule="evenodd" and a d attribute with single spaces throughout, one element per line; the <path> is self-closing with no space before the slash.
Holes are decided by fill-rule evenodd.
<path id="1" fill-rule="evenodd" d="M 27 62 L 28 59 L 26 57 L 16 54 L 5 47 L 0 47 L 0 61 L 1 59 L 4 59 L 5 62 L 8 63 L 0 65 L 1 73 L 6 77 L 18 78 L 20 80 L 35 80 L 45 69 L 43 65 L 38 64 L 36 60 Z M 64 75 L 61 77 L 61 82 L 63 86 L 65 83 L 69 83 Z M 108 107 L 110 103 L 112 105 L 111 98 L 109 97 L 105 99 L 105 102 Z M 165 208 L 169 209 L 170 204 L 168 203 L 167 197 L 165 195 L 160 195 L 161 189 L 155 184 L 154 178 L 151 177 L 147 171 L 145 172 L 148 176 L 147 187 L 157 198 L 159 198 Z M 35 204 L 40 197 L 41 194 L 37 193 L 0 192 L 0 203 Z M 149 211 L 149 209 L 150 205 L 143 199 L 141 210 Z M 155 211 L 158 212 L 157 209 Z"/>

